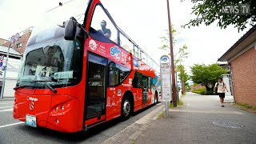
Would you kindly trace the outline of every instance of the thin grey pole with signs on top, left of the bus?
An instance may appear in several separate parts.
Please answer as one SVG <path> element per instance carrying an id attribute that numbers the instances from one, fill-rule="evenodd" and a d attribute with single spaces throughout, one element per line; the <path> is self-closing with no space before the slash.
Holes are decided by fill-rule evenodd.
<path id="1" fill-rule="evenodd" d="M 9 52 L 10 52 L 10 47 L 13 47 L 15 42 L 18 42 L 18 38 L 19 38 L 19 34 L 15 34 L 10 38 L 10 45 L 8 47 L 8 51 L 7 51 L 7 55 L 6 55 L 6 66 L 4 67 L 4 74 L 3 74 L 3 78 L 2 78 L 2 89 L 1 89 L 1 95 L 0 98 L 3 99 L 3 93 L 5 90 L 5 86 L 6 86 L 6 72 L 7 72 L 7 67 L 8 67 L 8 58 L 9 58 Z"/>

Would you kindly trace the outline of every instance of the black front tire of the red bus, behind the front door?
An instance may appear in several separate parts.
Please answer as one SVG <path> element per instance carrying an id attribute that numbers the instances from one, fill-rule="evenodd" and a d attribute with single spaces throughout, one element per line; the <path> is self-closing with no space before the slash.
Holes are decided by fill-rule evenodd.
<path id="1" fill-rule="evenodd" d="M 122 98 L 122 106 L 121 106 L 121 118 L 123 121 L 130 118 L 130 114 L 132 112 L 132 103 L 129 97 Z"/>

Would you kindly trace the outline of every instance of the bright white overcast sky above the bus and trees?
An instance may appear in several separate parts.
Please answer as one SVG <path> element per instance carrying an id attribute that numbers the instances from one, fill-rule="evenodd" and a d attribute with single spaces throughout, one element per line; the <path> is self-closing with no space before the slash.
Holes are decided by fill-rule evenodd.
<path id="1" fill-rule="evenodd" d="M 0 1 L 0 38 L 10 38 L 11 35 L 26 30 L 36 24 L 38 15 L 58 6 L 58 2 L 68 0 L 1 0 Z M 86 0 L 85 0 L 86 1 Z M 102 0 L 103 6 L 110 12 L 117 25 L 146 51 L 156 62 L 169 51 L 159 50 L 162 46 L 160 37 L 168 30 L 166 0 Z M 234 26 L 221 29 L 216 22 L 210 26 L 204 24 L 196 27 L 181 26 L 195 18 L 191 14 L 193 3 L 190 0 L 180 2 L 170 0 L 170 19 L 177 30 L 177 43 L 174 54 L 179 47 L 188 46 L 188 58 L 184 65 L 190 73 L 194 64 L 211 64 L 230 49 L 250 27 L 238 33 Z M 63 13 L 65 14 L 65 13 Z"/>

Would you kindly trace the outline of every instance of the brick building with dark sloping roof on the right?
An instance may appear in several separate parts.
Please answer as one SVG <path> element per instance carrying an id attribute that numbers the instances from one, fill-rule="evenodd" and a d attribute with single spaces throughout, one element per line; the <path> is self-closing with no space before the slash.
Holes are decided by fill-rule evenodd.
<path id="1" fill-rule="evenodd" d="M 234 101 L 256 106 L 256 26 L 244 34 L 218 61 L 228 62 Z"/>

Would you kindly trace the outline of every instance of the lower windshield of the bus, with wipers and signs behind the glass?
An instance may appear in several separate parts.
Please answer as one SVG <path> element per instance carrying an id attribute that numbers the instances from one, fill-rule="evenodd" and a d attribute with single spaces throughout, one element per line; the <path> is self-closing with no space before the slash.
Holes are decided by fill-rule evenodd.
<path id="1" fill-rule="evenodd" d="M 72 85 L 80 80 L 81 44 L 79 41 L 54 39 L 28 47 L 22 59 L 17 86 Z M 40 81 L 40 82 L 38 82 Z"/>

